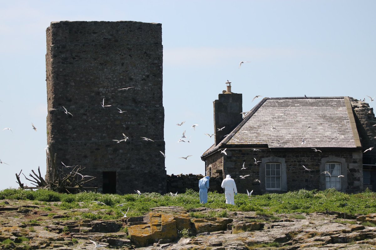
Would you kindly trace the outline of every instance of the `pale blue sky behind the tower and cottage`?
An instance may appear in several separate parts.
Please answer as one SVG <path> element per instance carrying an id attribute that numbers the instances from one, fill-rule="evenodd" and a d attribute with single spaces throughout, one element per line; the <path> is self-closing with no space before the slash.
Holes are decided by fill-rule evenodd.
<path id="1" fill-rule="evenodd" d="M 167 174 L 204 174 L 213 101 L 232 82 L 243 111 L 262 97 L 376 101 L 376 1 L 0 0 L 0 190 L 46 170 L 45 30 L 52 21 L 162 24 Z M 244 63 L 239 68 L 240 61 Z M 262 97 L 252 102 L 253 97 Z M 185 121 L 182 126 L 177 123 Z M 33 123 L 37 127 L 32 129 Z M 191 126 L 198 124 L 196 130 Z M 11 128 L 11 130 L 3 130 Z M 177 142 L 186 130 L 190 143 Z M 192 155 L 188 160 L 179 159 Z M 8 165 L 6 165 L 7 163 Z M 28 186 L 29 181 L 21 175 Z"/>

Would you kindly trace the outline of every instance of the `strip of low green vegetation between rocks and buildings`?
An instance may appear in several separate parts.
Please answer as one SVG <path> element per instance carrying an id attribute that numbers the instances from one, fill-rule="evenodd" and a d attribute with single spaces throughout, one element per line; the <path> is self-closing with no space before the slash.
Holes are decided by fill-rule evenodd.
<path id="1" fill-rule="evenodd" d="M 80 216 L 88 219 L 119 219 L 123 217 L 128 206 L 127 216 L 141 216 L 150 211 L 152 207 L 181 206 L 186 210 L 191 208 L 206 207 L 210 209 L 223 209 L 221 212 L 209 211 L 205 213 L 191 213 L 197 218 L 226 217 L 229 211 L 255 211 L 258 216 L 265 219 L 276 219 L 274 214 L 298 214 L 325 211 L 337 211 L 346 214 L 369 214 L 376 212 L 376 193 L 366 190 L 358 194 L 346 194 L 335 189 L 298 190 L 284 194 L 268 193 L 248 197 L 239 193 L 235 196 L 235 205 L 225 204 L 223 194 L 208 193 L 208 203 L 200 204 L 199 193 L 186 190 L 186 193 L 177 196 L 161 195 L 159 193 L 143 193 L 142 195 L 127 194 L 100 194 L 82 192 L 76 195 L 56 193 L 52 190 L 39 189 L 36 191 L 23 189 L 5 189 L 0 191 L 1 199 L 31 200 L 34 204 L 48 207 L 42 210 L 52 211 L 56 208 L 67 210 L 67 218 Z M 100 201 L 106 205 L 98 205 L 92 201 Z M 126 203 L 124 207 L 116 205 Z M 86 213 L 74 211 L 77 208 L 88 208 Z M 50 210 L 51 209 L 51 210 Z M 51 213 L 50 215 L 52 215 Z M 296 218 L 296 217 L 294 217 Z"/>

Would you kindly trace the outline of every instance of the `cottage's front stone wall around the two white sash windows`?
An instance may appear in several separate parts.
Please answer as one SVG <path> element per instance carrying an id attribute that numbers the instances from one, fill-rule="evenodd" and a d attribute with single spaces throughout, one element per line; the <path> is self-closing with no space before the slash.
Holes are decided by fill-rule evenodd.
<path id="1" fill-rule="evenodd" d="M 246 193 L 254 190 L 255 194 L 265 192 L 278 193 L 300 189 L 325 189 L 325 175 L 320 174 L 325 171 L 326 162 L 340 162 L 342 175 L 341 191 L 360 192 L 363 186 L 362 173 L 362 152 L 361 150 L 332 150 L 321 149 L 323 153 L 314 152 L 312 149 L 306 150 L 261 150 L 231 149 L 227 148 L 227 156 L 223 156 L 224 175 L 230 174 L 237 184 L 238 192 Z M 219 154 L 219 153 L 215 153 Z M 214 158 L 214 156 L 211 156 Z M 218 156 L 217 156 L 218 157 Z M 262 161 L 256 165 L 254 162 Z M 245 163 L 247 169 L 241 169 Z M 285 173 L 282 178 L 282 190 L 265 189 L 265 163 L 280 162 Z M 312 171 L 304 170 L 306 166 Z M 240 175 L 250 175 L 244 179 Z M 259 179 L 260 182 L 254 181 Z M 285 184 L 284 184 L 285 183 Z"/>

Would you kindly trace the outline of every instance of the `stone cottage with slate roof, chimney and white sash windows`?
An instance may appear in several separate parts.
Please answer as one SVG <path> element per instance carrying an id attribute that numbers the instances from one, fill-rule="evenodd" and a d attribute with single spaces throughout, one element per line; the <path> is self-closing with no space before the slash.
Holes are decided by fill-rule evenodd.
<path id="1" fill-rule="evenodd" d="M 214 101 L 215 143 L 201 156 L 210 176 L 230 174 L 241 193 L 376 190 L 376 149 L 367 150 L 376 142 L 376 120 L 367 103 L 265 97 L 242 112 L 242 95 L 231 86 Z"/>

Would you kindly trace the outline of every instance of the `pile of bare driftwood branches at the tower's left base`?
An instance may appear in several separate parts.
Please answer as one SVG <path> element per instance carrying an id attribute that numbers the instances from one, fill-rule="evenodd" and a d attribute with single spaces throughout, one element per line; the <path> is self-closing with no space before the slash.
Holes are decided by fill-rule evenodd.
<path id="1" fill-rule="evenodd" d="M 25 179 L 31 181 L 35 187 L 26 187 L 21 182 L 20 175 L 22 169 L 19 174 L 16 173 L 16 178 L 18 185 L 20 185 L 22 189 L 46 188 L 56 190 L 57 192 L 75 193 L 87 189 L 85 184 L 95 178 L 93 176 L 80 174 L 79 172 L 83 169 L 85 168 L 82 168 L 79 165 L 74 167 L 64 166 L 57 170 L 55 168 L 55 171 L 53 171 L 54 173 L 51 176 L 52 178 L 48 178 L 47 181 L 42 177 L 39 167 L 38 174 L 36 174 L 34 170 L 32 170 L 33 174 L 29 174 L 29 177 L 31 178 L 27 178 L 26 175 L 22 173 Z M 94 188 L 94 190 L 96 190 L 96 188 Z"/>

